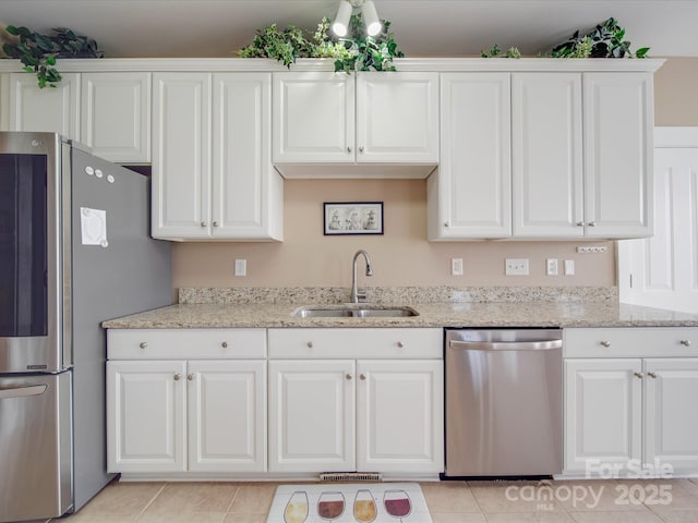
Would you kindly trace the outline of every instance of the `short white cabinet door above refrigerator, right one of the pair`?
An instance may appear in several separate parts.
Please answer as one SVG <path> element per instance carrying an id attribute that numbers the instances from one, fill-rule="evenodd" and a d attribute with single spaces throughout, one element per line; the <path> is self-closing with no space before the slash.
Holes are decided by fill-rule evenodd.
<path id="1" fill-rule="evenodd" d="M 109 161 L 151 161 L 151 73 L 83 73 L 81 142 Z"/>

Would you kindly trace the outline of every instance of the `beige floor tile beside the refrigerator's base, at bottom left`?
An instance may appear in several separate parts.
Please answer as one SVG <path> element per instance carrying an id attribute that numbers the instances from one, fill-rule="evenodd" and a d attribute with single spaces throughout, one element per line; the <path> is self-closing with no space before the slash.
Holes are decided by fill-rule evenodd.
<path id="1" fill-rule="evenodd" d="M 165 483 L 112 482 L 83 507 L 77 514 L 139 515 L 164 487 Z"/>

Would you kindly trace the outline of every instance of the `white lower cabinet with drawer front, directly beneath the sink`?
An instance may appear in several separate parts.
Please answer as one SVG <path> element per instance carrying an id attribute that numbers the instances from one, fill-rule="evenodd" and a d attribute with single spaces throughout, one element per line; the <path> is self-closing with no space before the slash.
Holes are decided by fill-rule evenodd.
<path id="1" fill-rule="evenodd" d="M 442 336 L 270 329 L 269 471 L 443 472 Z"/>

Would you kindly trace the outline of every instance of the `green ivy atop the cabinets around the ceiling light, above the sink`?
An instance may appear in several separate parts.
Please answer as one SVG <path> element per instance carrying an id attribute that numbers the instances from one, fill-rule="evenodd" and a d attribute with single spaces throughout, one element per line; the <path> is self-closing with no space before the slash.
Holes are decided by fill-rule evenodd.
<path id="1" fill-rule="evenodd" d="M 242 58 L 272 58 L 287 68 L 298 58 L 332 58 L 335 71 L 395 71 L 393 59 L 405 54 L 398 50 L 395 37 L 388 31 L 390 22 L 381 22 L 383 31 L 376 36 L 369 36 L 361 13 L 352 14 L 349 35 L 344 38 L 329 34 L 330 22 L 326 16 L 309 37 L 292 25 L 280 31 L 272 24 L 257 31 L 252 44 L 238 53 Z"/>

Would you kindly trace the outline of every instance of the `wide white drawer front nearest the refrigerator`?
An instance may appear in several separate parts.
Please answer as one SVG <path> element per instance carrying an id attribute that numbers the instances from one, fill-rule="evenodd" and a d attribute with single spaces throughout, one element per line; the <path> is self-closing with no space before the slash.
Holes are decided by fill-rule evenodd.
<path id="1" fill-rule="evenodd" d="M 265 329 L 109 329 L 109 360 L 266 357 Z"/>

